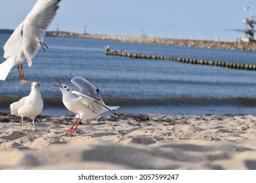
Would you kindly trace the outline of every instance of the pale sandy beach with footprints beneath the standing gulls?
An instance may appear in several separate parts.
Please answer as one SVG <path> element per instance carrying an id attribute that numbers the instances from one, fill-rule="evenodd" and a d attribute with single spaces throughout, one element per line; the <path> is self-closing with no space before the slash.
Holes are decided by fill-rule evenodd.
<path id="1" fill-rule="evenodd" d="M 256 116 L 0 114 L 0 169 L 256 169 Z"/>

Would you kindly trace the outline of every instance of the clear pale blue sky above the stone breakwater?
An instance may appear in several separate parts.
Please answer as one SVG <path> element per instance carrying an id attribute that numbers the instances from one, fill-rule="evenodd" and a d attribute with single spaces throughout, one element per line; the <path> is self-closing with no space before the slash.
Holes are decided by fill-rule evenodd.
<path id="1" fill-rule="evenodd" d="M 26 2 L 26 3 L 24 3 Z M 14 29 L 36 0 L 0 0 L 0 29 Z M 48 31 L 235 41 L 252 0 L 62 0 Z"/>

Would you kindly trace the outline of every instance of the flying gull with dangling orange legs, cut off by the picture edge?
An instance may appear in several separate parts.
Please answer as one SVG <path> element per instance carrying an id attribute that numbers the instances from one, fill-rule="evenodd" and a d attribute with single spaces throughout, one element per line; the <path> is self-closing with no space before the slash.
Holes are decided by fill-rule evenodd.
<path id="1" fill-rule="evenodd" d="M 3 46 L 4 58 L 7 60 L 0 65 L 0 80 L 5 80 L 15 65 L 17 65 L 20 80 L 26 80 L 22 63 L 26 59 L 28 66 L 31 67 L 32 58 L 39 46 L 41 45 L 43 50 L 45 50 L 43 46 L 47 47 L 43 43 L 43 37 L 56 14 L 59 2 L 60 0 L 38 0 L 25 20 L 16 27 Z"/>

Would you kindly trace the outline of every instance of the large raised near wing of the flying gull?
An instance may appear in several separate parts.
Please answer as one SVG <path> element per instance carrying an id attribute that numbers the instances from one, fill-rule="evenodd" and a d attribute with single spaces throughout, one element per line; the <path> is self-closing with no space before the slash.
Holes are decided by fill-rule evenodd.
<path id="1" fill-rule="evenodd" d="M 39 42 L 43 42 L 45 31 L 56 14 L 60 0 L 38 0 L 24 20 L 22 46 L 24 56 L 31 67 Z"/>

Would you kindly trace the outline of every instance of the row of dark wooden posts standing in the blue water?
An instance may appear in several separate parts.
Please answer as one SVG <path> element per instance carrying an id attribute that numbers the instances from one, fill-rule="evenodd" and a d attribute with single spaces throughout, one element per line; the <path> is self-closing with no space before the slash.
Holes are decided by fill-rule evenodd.
<path id="1" fill-rule="evenodd" d="M 171 56 L 156 56 L 149 54 L 137 54 L 137 53 L 129 53 L 122 51 L 110 51 L 106 50 L 105 54 L 107 56 L 123 56 L 127 58 L 139 58 L 139 59 L 165 59 L 172 61 L 179 61 L 181 63 L 191 63 L 191 64 L 200 64 L 200 65 L 215 65 L 218 67 L 228 67 L 232 69 L 244 69 L 250 71 L 256 71 L 256 65 L 253 64 L 244 64 L 244 63 L 230 63 L 224 61 L 211 61 L 205 59 L 192 59 L 192 58 L 177 58 Z"/>

